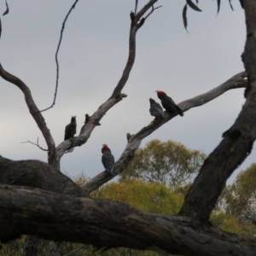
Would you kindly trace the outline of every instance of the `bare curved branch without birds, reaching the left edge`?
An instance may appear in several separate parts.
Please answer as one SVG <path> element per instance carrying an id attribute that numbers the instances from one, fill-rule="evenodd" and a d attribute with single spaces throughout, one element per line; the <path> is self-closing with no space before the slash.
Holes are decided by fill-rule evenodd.
<path id="1" fill-rule="evenodd" d="M 45 142 L 48 146 L 48 149 L 49 149 L 49 155 L 48 155 L 49 164 L 52 164 L 56 168 L 56 170 L 58 170 L 59 169 L 59 162 L 55 161 L 55 159 L 56 159 L 56 150 L 55 150 L 54 139 L 50 134 L 50 131 L 49 131 L 49 129 L 48 129 L 48 127 L 47 127 L 47 125 L 44 121 L 44 117 L 43 117 L 42 113 L 39 112 L 36 103 L 32 99 L 31 91 L 26 86 L 26 84 L 23 83 L 20 79 L 18 79 L 17 77 L 12 75 L 11 73 L 8 73 L 7 71 L 5 71 L 1 64 L 0 64 L 0 76 L 4 80 L 8 81 L 9 83 L 15 84 L 23 92 L 23 94 L 25 96 L 25 101 L 26 101 L 27 108 L 29 109 L 29 112 L 32 114 L 33 119 L 38 124 L 38 128 L 43 133 Z"/>

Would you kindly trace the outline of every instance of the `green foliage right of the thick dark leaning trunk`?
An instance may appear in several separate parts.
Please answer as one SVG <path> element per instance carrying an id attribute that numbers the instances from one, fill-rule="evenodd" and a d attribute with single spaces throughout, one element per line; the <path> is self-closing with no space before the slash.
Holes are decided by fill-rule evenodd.
<path id="1" fill-rule="evenodd" d="M 218 227 L 241 236 L 256 236 L 256 163 L 240 172 L 218 199 L 218 210 L 226 212 Z"/>

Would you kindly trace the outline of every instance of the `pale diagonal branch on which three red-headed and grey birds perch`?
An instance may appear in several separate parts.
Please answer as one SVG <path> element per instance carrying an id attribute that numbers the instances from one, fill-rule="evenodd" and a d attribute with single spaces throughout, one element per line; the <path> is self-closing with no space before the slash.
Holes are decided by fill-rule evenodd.
<path id="1" fill-rule="evenodd" d="M 178 107 L 185 112 L 190 108 L 195 108 L 212 101 L 227 90 L 245 88 L 247 86 L 247 79 L 244 79 L 245 76 L 245 72 L 237 73 L 235 76 L 224 82 L 224 84 L 220 84 L 218 87 L 209 90 L 205 94 L 195 96 L 194 98 L 181 102 L 178 104 Z M 154 119 L 149 125 L 143 127 L 141 131 L 138 131 L 137 134 L 128 136 L 128 144 L 126 145 L 126 148 L 123 154 L 121 154 L 119 160 L 115 163 L 114 175 L 118 175 L 120 172 L 123 172 L 127 166 L 129 166 L 134 153 L 137 148 L 139 148 L 143 138 L 148 137 L 148 135 L 160 128 L 161 125 L 166 124 L 166 122 L 173 117 L 175 117 L 175 115 L 166 112 L 165 119 Z M 85 189 L 87 193 L 90 193 L 112 178 L 113 177 L 108 176 L 106 172 L 102 172 L 96 177 L 93 177 L 89 182 L 84 183 L 82 188 Z"/>

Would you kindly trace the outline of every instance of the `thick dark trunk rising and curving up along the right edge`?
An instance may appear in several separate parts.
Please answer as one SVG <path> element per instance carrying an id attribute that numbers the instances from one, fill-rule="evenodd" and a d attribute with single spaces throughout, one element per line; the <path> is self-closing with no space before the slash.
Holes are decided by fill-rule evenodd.
<path id="1" fill-rule="evenodd" d="M 207 221 L 231 173 L 251 153 L 256 138 L 256 2 L 245 0 L 247 42 L 242 60 L 247 71 L 247 101 L 234 125 L 201 166 L 181 213 Z"/>

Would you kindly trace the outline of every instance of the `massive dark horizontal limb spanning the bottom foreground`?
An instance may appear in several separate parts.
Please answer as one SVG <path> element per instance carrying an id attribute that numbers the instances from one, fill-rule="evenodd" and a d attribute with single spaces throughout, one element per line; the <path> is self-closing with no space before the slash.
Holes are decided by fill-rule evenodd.
<path id="1" fill-rule="evenodd" d="M 0 198 L 2 241 L 27 234 L 95 247 L 189 256 L 254 256 L 256 251 L 256 240 L 224 233 L 187 217 L 147 214 L 119 202 L 10 185 L 0 185 Z"/>

